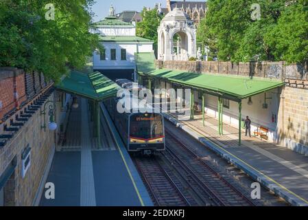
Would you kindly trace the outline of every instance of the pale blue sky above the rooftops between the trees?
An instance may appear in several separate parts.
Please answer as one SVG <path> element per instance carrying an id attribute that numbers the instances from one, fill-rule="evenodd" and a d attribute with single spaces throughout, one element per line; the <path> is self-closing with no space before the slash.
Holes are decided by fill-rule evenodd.
<path id="1" fill-rule="evenodd" d="M 107 17 L 110 5 L 113 5 L 116 14 L 123 10 L 136 10 L 141 12 L 144 6 L 154 8 L 155 3 L 162 3 L 163 8 L 166 7 L 165 0 L 96 0 L 96 2 L 92 7 L 93 12 L 95 12 L 94 21 L 100 21 Z"/>

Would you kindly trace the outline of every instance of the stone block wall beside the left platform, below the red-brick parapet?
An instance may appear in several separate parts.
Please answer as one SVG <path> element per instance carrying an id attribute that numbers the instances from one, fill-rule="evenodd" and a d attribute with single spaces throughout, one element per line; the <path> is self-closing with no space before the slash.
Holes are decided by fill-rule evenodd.
<path id="1" fill-rule="evenodd" d="M 54 94 L 51 94 L 49 100 L 54 100 Z M 16 158 L 17 164 L 12 177 L 5 186 L 5 192 L 10 190 L 10 193 L 6 193 L 9 197 L 5 198 L 7 206 L 32 206 L 34 202 L 47 160 L 55 146 L 55 132 L 48 129 L 45 132 L 40 127 L 43 125 L 43 117 L 46 117 L 48 122 L 48 115 L 40 115 L 40 111 L 36 111 L 12 140 L 0 148 L 0 175 L 12 159 Z M 3 131 L 1 126 L 0 133 Z M 23 178 L 21 155 L 27 146 L 32 148 L 31 165 Z"/>

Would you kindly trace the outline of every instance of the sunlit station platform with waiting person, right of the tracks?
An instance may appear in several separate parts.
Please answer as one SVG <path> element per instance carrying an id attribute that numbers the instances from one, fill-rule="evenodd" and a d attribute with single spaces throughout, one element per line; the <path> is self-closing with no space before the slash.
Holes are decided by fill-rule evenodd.
<path id="1" fill-rule="evenodd" d="M 206 147 L 227 159 L 283 197 L 293 206 L 308 206 L 308 157 L 258 137 L 246 137 L 242 131 L 238 145 L 238 129 L 224 124 L 224 135 L 218 135 L 218 121 L 206 115 L 194 120 L 178 121 L 176 114 L 164 113 L 165 118 L 202 142 Z"/>

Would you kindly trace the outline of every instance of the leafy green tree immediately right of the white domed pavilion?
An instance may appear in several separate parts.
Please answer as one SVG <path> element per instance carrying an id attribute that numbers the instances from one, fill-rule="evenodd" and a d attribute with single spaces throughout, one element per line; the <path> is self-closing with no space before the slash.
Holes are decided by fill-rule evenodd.
<path id="1" fill-rule="evenodd" d="M 251 0 L 209 0 L 206 12 L 206 31 L 217 47 L 222 61 L 235 61 L 237 48 L 250 21 Z M 202 30 L 200 30 L 202 32 Z"/>

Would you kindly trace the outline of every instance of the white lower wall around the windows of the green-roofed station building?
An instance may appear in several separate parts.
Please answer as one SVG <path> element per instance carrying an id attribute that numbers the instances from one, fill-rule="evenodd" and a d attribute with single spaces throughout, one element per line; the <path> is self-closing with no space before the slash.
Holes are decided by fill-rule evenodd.
<path id="1" fill-rule="evenodd" d="M 93 53 L 93 69 L 134 69 L 136 62 L 134 53 L 152 52 L 152 43 L 104 43 L 106 50 L 106 61 L 100 60 L 100 54 Z M 117 60 L 111 61 L 110 50 L 117 51 Z M 126 49 L 126 61 L 121 61 L 121 49 Z"/>

